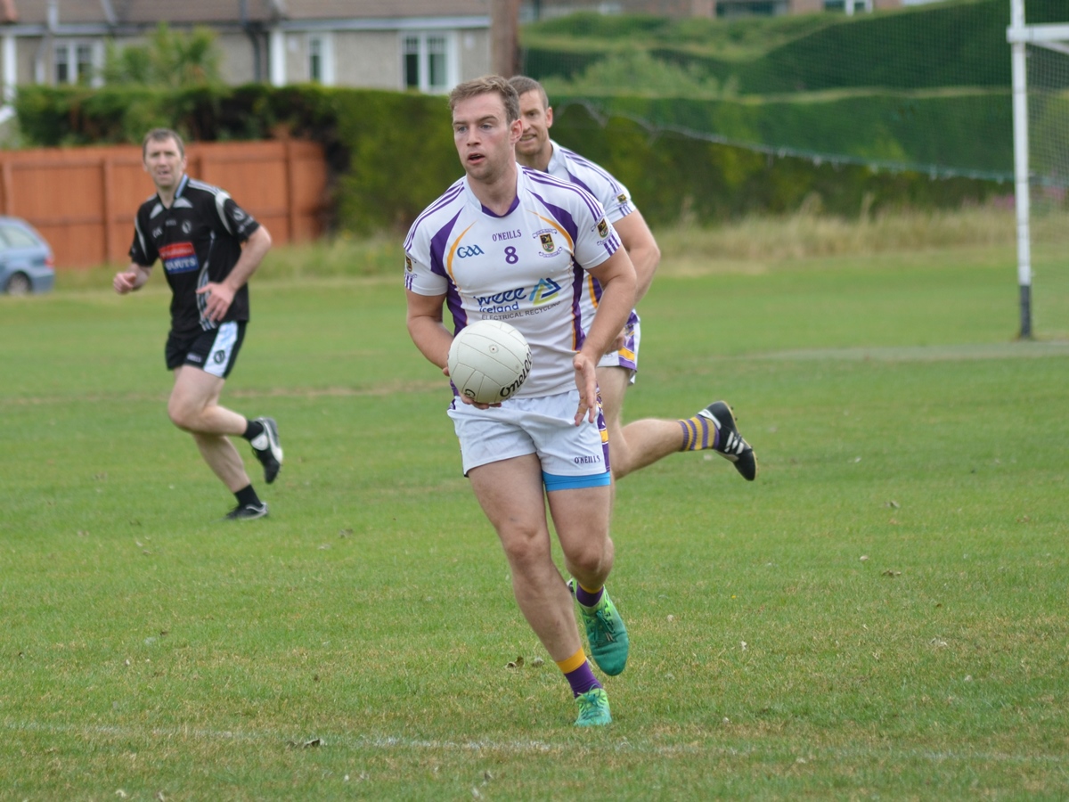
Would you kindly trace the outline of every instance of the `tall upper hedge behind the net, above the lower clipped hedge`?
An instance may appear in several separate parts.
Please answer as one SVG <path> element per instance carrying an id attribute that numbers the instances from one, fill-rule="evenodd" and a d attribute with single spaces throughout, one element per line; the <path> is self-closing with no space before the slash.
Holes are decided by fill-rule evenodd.
<path id="1" fill-rule="evenodd" d="M 946 0 L 876 14 L 745 20 L 582 13 L 525 26 L 524 71 L 574 79 L 611 53 L 647 50 L 742 94 L 850 87 L 1010 84 L 1009 0 Z M 1066 21 L 1066 0 L 1027 0 L 1029 24 Z M 634 88 L 636 93 L 641 87 Z"/>

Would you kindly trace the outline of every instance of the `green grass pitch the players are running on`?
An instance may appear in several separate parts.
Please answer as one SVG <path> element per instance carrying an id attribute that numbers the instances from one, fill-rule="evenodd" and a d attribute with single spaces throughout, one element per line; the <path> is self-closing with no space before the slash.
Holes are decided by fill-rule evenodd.
<path id="1" fill-rule="evenodd" d="M 595 732 L 400 275 L 258 279 L 224 403 L 286 460 L 268 488 L 248 459 L 272 514 L 238 524 L 167 421 L 159 276 L 0 297 L 0 797 L 1064 799 L 1069 281 L 1043 281 L 1023 343 L 1005 247 L 666 259 L 626 417 L 726 398 L 761 475 L 620 482 L 633 651 Z"/>

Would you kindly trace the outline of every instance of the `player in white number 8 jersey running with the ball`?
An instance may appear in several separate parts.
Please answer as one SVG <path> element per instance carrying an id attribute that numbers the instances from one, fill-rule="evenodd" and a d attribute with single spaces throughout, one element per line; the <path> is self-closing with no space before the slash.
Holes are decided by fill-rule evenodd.
<path id="1" fill-rule="evenodd" d="M 454 389 L 449 416 L 464 473 L 508 558 L 516 602 L 571 685 L 575 724 L 608 724 L 608 697 L 553 560 L 546 505 L 576 580 L 591 656 L 617 675 L 629 641 L 605 592 L 613 488 L 597 364 L 634 306 L 635 269 L 593 197 L 516 164 L 523 126 L 507 79 L 462 83 L 449 105 L 465 176 L 428 206 L 405 240 L 408 333 L 446 375 L 453 333 L 468 322 L 508 321 L 530 344 L 531 371 L 516 396 L 475 404 Z M 592 323 L 579 303 L 588 274 L 603 287 Z M 443 323 L 446 306 L 452 331 Z"/>

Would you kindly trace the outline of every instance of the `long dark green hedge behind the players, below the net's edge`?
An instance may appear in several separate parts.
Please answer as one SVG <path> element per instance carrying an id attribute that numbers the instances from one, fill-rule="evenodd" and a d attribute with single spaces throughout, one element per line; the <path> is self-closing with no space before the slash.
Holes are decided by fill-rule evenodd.
<path id="1" fill-rule="evenodd" d="M 336 225 L 353 232 L 403 232 L 462 174 L 448 107 L 436 96 L 262 84 L 195 92 L 26 88 L 16 108 L 24 133 L 40 145 L 140 142 L 155 125 L 192 141 L 260 139 L 281 129 L 310 137 L 327 152 Z M 873 210 L 942 207 L 1009 191 L 990 181 L 936 181 L 651 135 L 622 117 L 602 124 L 582 105 L 560 108 L 553 134 L 624 182 L 652 225 L 684 215 L 713 223 L 790 212 L 815 197 L 825 211 L 853 216 L 866 198 Z"/>

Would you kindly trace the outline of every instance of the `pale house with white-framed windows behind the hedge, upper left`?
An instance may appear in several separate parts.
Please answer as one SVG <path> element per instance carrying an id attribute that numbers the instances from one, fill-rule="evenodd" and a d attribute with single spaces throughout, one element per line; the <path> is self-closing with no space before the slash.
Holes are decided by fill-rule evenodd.
<path id="1" fill-rule="evenodd" d="M 445 93 L 491 67 L 493 0 L 0 0 L 0 81 L 99 83 L 105 43 L 211 28 L 228 83 Z"/>

